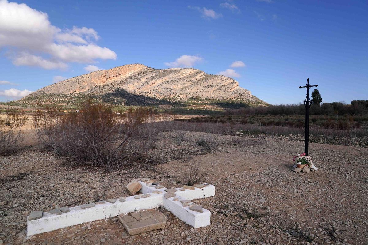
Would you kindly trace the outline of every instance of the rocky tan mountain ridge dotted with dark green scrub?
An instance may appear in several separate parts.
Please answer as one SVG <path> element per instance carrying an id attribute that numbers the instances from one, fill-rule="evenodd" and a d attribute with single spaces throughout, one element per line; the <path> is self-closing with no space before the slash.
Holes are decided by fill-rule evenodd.
<path id="1" fill-rule="evenodd" d="M 95 71 L 43 87 L 11 104 L 32 107 L 36 103 L 75 107 L 87 97 L 114 107 L 167 105 L 213 108 L 231 105 L 266 105 L 239 83 L 222 75 L 194 68 L 154 69 L 142 64 Z"/>

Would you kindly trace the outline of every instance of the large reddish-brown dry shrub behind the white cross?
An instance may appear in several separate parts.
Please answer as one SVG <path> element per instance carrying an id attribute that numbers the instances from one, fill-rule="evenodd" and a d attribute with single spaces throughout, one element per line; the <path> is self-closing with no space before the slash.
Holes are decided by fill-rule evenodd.
<path id="1" fill-rule="evenodd" d="M 127 145 L 144 118 L 141 111 L 116 115 L 88 100 L 79 112 L 37 112 L 33 124 L 41 143 L 56 154 L 112 170 L 127 161 Z"/>

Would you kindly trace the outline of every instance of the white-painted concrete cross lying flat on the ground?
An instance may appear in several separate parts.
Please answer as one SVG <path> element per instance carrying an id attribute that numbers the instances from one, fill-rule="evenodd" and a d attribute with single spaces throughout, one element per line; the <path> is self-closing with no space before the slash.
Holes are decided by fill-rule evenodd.
<path id="1" fill-rule="evenodd" d="M 139 181 L 142 184 L 142 194 L 149 195 L 135 195 L 130 197 L 109 199 L 106 202 L 97 202 L 97 204 L 90 208 L 81 208 L 81 206 L 71 207 L 70 211 L 61 213 L 60 215 L 52 213 L 43 213 L 37 211 L 37 218 L 30 220 L 28 216 L 27 221 L 27 236 L 44 233 L 47 231 L 57 230 L 60 228 L 74 226 L 86 222 L 92 222 L 100 219 L 107 219 L 120 215 L 122 213 L 130 213 L 142 209 L 152 209 L 163 206 L 180 220 L 184 221 L 192 227 L 204 227 L 210 224 L 211 213 L 209 210 L 197 206 L 188 201 L 184 204 L 180 200 L 193 200 L 205 197 L 212 197 L 215 195 L 215 186 L 210 184 L 198 185 L 201 188 L 195 187 L 194 190 L 176 188 L 176 196 L 166 197 L 166 188 L 156 189 L 148 181 Z M 181 189 L 181 190 L 180 190 Z M 183 191 L 182 191 L 183 190 Z M 160 193 L 157 193 L 160 192 Z M 92 206 L 92 205 L 91 205 Z M 202 211 L 202 212 L 201 212 Z"/>

